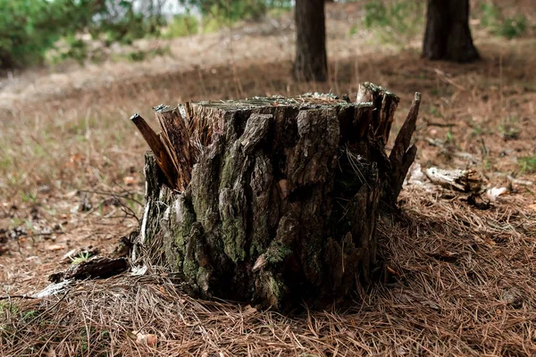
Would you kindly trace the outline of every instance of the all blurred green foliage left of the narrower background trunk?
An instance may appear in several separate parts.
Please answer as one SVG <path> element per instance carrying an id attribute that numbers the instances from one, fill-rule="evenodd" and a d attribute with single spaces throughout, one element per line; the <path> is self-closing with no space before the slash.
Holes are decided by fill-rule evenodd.
<path id="1" fill-rule="evenodd" d="M 203 15 L 204 32 L 292 5 L 290 0 L 178 1 Z M 138 9 L 134 9 L 134 0 L 0 0 L 0 69 L 36 65 L 45 59 L 53 63 L 67 58 L 100 62 L 105 57 L 102 48 L 113 43 L 130 45 L 141 37 L 159 36 L 161 31 L 167 38 L 200 31 L 199 21 L 189 12 L 166 24 L 161 6 L 159 0 L 138 1 Z M 91 46 L 89 51 L 88 37 L 102 46 Z M 136 52 L 128 58 L 142 61 L 147 55 L 153 53 Z"/>

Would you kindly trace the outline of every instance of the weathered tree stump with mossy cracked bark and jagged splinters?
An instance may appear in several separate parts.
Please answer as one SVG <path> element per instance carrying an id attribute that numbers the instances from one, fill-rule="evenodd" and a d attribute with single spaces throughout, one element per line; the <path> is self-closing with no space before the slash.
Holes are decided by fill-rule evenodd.
<path id="1" fill-rule="evenodd" d="M 415 159 L 420 95 L 390 156 L 398 97 L 302 95 L 155 107 L 138 115 L 146 207 L 135 264 L 164 266 L 190 295 L 289 311 L 351 300 L 376 263 L 376 219 Z"/>

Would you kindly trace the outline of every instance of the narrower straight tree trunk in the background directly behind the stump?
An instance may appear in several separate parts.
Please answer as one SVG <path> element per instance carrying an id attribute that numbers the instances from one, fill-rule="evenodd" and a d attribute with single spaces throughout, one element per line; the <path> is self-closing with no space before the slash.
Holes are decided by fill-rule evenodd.
<path id="1" fill-rule="evenodd" d="M 324 0 L 297 0 L 296 62 L 297 79 L 324 81 L 328 74 Z"/>

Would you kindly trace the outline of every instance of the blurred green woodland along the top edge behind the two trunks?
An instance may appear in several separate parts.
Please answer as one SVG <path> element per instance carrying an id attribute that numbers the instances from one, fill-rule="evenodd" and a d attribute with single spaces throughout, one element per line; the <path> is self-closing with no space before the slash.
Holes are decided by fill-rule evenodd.
<path id="1" fill-rule="evenodd" d="M 329 3 L 334 3 L 330 1 Z M 425 3 L 349 0 L 362 9 L 340 37 L 366 29 L 381 29 L 381 40 L 403 42 L 423 32 Z M 495 4 L 497 3 L 497 4 Z M 490 35 L 531 36 L 534 25 L 524 7 L 529 1 L 474 1 L 473 26 Z M 510 4 L 514 3 L 514 4 Z M 519 3 L 519 4 L 517 4 Z M 524 5 L 523 5 L 524 3 Z M 187 37 L 219 29 L 281 18 L 294 5 L 292 0 L 2 0 L 0 68 L 53 65 L 67 59 L 80 64 L 118 59 L 111 46 L 133 45 L 145 38 Z M 349 19 L 348 19 L 349 20 Z M 400 44 L 401 46 L 403 44 Z M 169 48 L 125 52 L 124 58 L 142 61 L 147 56 L 169 54 Z"/>

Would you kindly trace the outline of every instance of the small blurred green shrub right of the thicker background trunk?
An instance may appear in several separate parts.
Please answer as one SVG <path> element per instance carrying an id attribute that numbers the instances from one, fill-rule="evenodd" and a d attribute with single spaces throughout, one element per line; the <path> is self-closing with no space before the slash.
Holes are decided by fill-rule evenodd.
<path id="1" fill-rule="evenodd" d="M 503 18 L 502 13 L 493 3 L 481 5 L 481 24 L 490 33 L 512 39 L 521 37 L 527 29 L 527 18 L 523 14 Z"/>

